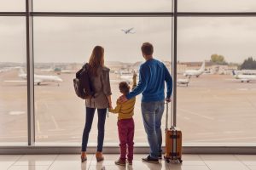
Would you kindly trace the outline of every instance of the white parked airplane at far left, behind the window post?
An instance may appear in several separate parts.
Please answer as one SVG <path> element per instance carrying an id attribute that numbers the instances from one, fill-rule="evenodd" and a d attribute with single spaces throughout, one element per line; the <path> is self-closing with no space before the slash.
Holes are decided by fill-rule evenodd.
<path id="1" fill-rule="evenodd" d="M 22 69 L 20 69 L 18 77 L 20 77 L 23 80 L 6 80 L 4 82 L 26 82 L 26 73 Z M 39 86 L 42 82 L 57 82 L 59 86 L 59 82 L 63 82 L 63 80 L 61 79 L 61 77 L 57 76 L 34 74 L 34 84 L 37 84 Z"/>

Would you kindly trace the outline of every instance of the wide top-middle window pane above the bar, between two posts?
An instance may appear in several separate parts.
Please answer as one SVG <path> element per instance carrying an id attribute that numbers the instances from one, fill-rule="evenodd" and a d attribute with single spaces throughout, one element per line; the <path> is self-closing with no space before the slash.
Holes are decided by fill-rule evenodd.
<path id="1" fill-rule="evenodd" d="M 171 12 L 170 0 L 34 0 L 34 11 L 42 12 Z M 61 5 L 60 5 L 61 4 Z"/>

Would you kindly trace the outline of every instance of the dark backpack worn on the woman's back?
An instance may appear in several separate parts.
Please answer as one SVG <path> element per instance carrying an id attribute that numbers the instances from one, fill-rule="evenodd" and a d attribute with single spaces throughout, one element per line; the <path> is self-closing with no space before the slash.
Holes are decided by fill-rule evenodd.
<path id="1" fill-rule="evenodd" d="M 76 78 L 73 79 L 73 87 L 76 94 L 81 99 L 90 99 L 93 97 L 93 90 L 90 83 L 90 73 L 88 71 L 89 65 L 86 63 L 77 73 Z"/>

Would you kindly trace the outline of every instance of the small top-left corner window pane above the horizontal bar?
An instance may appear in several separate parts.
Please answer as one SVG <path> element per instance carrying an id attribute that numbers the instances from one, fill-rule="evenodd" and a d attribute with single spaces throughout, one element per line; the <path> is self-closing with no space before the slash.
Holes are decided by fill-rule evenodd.
<path id="1" fill-rule="evenodd" d="M 0 0 L 0 12 L 23 12 L 25 0 Z"/>

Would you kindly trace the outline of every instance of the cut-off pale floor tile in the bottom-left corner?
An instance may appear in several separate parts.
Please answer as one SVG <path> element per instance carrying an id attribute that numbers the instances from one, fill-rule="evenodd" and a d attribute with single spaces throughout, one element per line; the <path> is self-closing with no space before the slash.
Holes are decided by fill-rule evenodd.
<path id="1" fill-rule="evenodd" d="M 8 169 L 11 165 L 15 164 L 15 161 L 20 159 L 20 155 L 1 155 L 0 156 L 0 167 L 1 170 Z"/>

